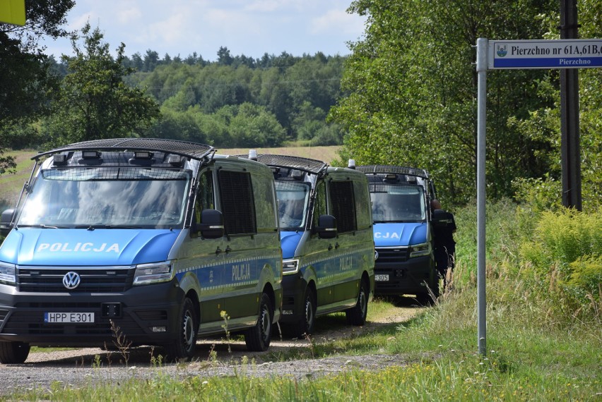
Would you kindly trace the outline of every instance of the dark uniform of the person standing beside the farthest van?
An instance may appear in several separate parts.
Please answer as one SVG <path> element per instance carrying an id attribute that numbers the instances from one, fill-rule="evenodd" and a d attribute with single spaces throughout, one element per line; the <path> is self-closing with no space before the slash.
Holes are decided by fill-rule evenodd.
<path id="1" fill-rule="evenodd" d="M 451 212 L 435 209 L 432 212 L 432 236 L 435 245 L 435 264 L 437 271 L 443 276 L 444 286 L 447 285 L 447 269 L 454 269 L 456 263 L 456 242 L 454 232 L 456 221 Z"/>

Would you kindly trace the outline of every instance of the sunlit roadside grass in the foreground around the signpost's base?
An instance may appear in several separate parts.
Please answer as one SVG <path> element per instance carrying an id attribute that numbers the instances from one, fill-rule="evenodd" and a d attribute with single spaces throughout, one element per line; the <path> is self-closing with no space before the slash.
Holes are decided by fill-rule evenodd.
<path id="1" fill-rule="evenodd" d="M 52 392 L 30 391 L 15 400 L 49 401 L 599 401 L 602 392 L 600 329 L 575 323 L 558 329 L 543 322 L 541 305 L 520 297 L 502 303 L 499 283 L 488 286 L 488 353 L 476 353 L 475 291 L 466 287 L 443 296 L 410 322 L 379 327 L 374 334 L 335 341 L 315 357 L 392 353 L 399 365 L 358 369 L 314 379 L 188 377 L 157 371 L 153 379 L 81 386 L 55 384 Z M 380 301 L 384 309 L 393 307 Z M 389 303 L 389 304 L 387 304 Z M 545 306 L 544 306 L 545 307 Z M 380 307 L 378 307 L 380 308 Z M 291 356 L 281 355 L 279 360 Z M 298 355 L 294 356 L 299 358 Z M 306 356 L 307 358 L 311 356 Z M 110 370 L 110 369 L 107 369 Z M 241 372 L 253 372 L 252 364 Z"/>

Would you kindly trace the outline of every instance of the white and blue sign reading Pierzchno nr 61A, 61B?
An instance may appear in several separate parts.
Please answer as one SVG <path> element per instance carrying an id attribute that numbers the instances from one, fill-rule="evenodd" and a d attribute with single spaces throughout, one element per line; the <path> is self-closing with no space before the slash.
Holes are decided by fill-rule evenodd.
<path id="1" fill-rule="evenodd" d="M 602 67 L 602 39 L 490 40 L 488 69 Z"/>

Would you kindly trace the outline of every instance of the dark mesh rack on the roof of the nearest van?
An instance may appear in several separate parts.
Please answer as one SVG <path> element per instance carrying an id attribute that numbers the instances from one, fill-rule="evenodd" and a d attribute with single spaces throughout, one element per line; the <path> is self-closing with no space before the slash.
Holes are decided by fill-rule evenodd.
<path id="1" fill-rule="evenodd" d="M 81 150 L 168 152 L 191 159 L 203 159 L 203 157 L 206 157 L 211 152 L 216 151 L 211 145 L 199 144 L 198 142 L 163 140 L 160 138 L 109 138 L 106 140 L 76 142 L 51 151 L 42 152 L 31 159 L 38 160 L 45 155 Z"/>

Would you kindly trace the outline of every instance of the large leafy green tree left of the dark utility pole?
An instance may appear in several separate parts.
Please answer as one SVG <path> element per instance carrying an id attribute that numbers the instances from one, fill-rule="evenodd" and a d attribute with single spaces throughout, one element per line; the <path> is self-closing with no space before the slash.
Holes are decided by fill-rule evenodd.
<path id="1" fill-rule="evenodd" d="M 341 85 L 350 95 L 329 114 L 349 133 L 343 160 L 422 167 L 446 202 L 470 200 L 476 193 L 476 39 L 542 38 L 545 17 L 557 7 L 555 0 L 353 1 L 350 11 L 367 16 L 367 30 L 346 62 Z M 512 194 L 512 179 L 549 168 L 534 154 L 548 144 L 507 124 L 553 106 L 537 92 L 548 74 L 488 75 L 492 197 Z"/>

